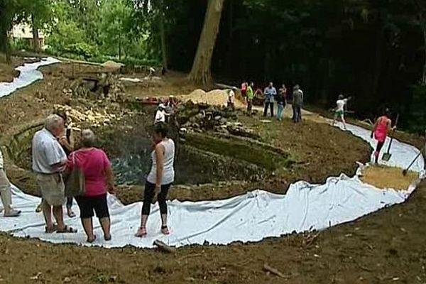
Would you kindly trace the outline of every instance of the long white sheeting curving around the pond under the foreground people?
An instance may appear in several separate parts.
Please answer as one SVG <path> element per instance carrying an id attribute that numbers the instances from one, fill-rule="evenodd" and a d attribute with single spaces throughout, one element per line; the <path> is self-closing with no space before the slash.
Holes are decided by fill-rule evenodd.
<path id="1" fill-rule="evenodd" d="M 348 126 L 354 135 L 371 141 L 370 132 L 357 126 Z M 373 142 L 371 142 L 373 145 Z M 405 167 L 418 151 L 394 141 L 391 165 Z M 419 158 L 413 170 L 420 173 L 424 160 Z M 401 173 L 402 174 L 402 173 Z M 296 182 L 286 195 L 275 195 L 257 190 L 228 200 L 204 202 L 169 202 L 169 224 L 172 234 L 160 234 L 158 206 L 153 205 L 148 221 L 148 236 L 134 237 L 140 222 L 141 202 L 122 205 L 109 196 L 111 209 L 112 241 L 102 239 L 97 225 L 98 240 L 91 245 L 122 247 L 133 245 L 142 248 L 153 246 L 155 239 L 173 246 L 190 244 L 229 244 L 233 241 L 260 241 L 266 237 L 281 236 L 293 231 L 326 229 L 329 226 L 350 222 L 378 209 L 404 202 L 416 185 L 405 191 L 378 190 L 363 184 L 359 178 L 329 178 L 324 185 Z M 40 201 L 14 188 L 13 202 L 23 210 L 18 219 L 2 218 L 1 231 L 12 231 L 15 236 L 31 236 L 54 243 L 85 244 L 80 219 L 67 219 L 67 224 L 80 229 L 78 234 L 45 234 L 42 214 L 34 212 Z M 141 192 L 142 195 L 142 192 Z M 77 207 L 75 207 L 77 209 Z M 97 221 L 94 224 L 98 224 Z"/>

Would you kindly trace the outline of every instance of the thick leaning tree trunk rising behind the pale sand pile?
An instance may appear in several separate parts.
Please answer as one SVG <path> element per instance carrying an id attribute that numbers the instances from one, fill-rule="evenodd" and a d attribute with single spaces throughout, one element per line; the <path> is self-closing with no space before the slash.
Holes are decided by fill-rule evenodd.
<path id="1" fill-rule="evenodd" d="M 204 26 L 202 28 L 197 53 L 195 54 L 189 79 L 197 84 L 209 84 L 212 82 L 212 56 L 219 32 L 220 17 L 224 0 L 209 0 Z"/>

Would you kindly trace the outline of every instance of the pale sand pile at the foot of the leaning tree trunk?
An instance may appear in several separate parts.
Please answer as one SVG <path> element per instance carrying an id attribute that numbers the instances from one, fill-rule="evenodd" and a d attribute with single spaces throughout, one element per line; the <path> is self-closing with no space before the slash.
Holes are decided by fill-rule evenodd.
<path id="1" fill-rule="evenodd" d="M 196 89 L 188 95 L 181 96 L 183 101 L 192 101 L 195 104 L 209 104 L 212 106 L 226 106 L 228 102 L 228 92 L 222 89 L 214 89 L 210 92 L 204 92 L 202 89 Z M 235 107 L 244 108 L 244 104 L 238 99 L 234 99 Z"/>

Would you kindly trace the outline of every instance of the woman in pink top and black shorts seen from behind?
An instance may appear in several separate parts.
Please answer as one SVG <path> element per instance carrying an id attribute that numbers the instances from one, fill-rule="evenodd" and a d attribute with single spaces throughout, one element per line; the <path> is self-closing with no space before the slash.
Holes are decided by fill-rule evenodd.
<path id="1" fill-rule="evenodd" d="M 89 243 L 96 240 L 92 223 L 94 212 L 104 231 L 105 241 L 111 240 L 107 192 L 115 192 L 111 163 L 104 151 L 94 148 L 95 140 L 93 131 L 84 129 L 80 140 L 82 148 L 70 154 L 65 170 L 70 173 L 77 165 L 84 173 L 85 192 L 83 196 L 75 197 L 75 200 L 80 207 L 80 218 Z"/>

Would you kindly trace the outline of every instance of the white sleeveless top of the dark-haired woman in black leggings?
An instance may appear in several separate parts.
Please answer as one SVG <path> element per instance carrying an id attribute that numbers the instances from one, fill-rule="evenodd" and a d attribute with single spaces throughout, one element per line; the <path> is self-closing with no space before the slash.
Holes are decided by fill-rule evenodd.
<path id="1" fill-rule="evenodd" d="M 172 139 L 167 141 L 161 141 L 161 145 L 164 147 L 164 158 L 163 158 L 163 178 L 161 178 L 161 185 L 168 185 L 175 181 L 175 169 L 173 164 L 175 163 L 175 142 Z M 151 159 L 153 160 L 153 165 L 151 166 L 151 171 L 149 172 L 146 180 L 155 184 L 157 178 L 157 157 L 155 156 L 155 151 L 151 153 Z"/>

